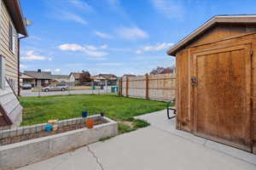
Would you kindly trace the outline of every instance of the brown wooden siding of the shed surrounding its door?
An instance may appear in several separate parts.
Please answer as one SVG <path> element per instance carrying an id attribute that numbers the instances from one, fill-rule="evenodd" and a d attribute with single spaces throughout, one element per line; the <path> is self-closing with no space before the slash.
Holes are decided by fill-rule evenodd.
<path id="1" fill-rule="evenodd" d="M 233 26 L 234 27 L 234 26 Z M 191 55 L 209 49 L 226 48 L 251 43 L 252 56 L 252 137 L 253 153 L 256 154 L 256 26 L 218 26 L 208 31 L 202 37 L 183 48 L 176 55 L 177 59 L 177 128 L 184 131 L 193 131 L 193 111 L 189 108 L 193 102 L 189 65 L 193 69 Z"/>

